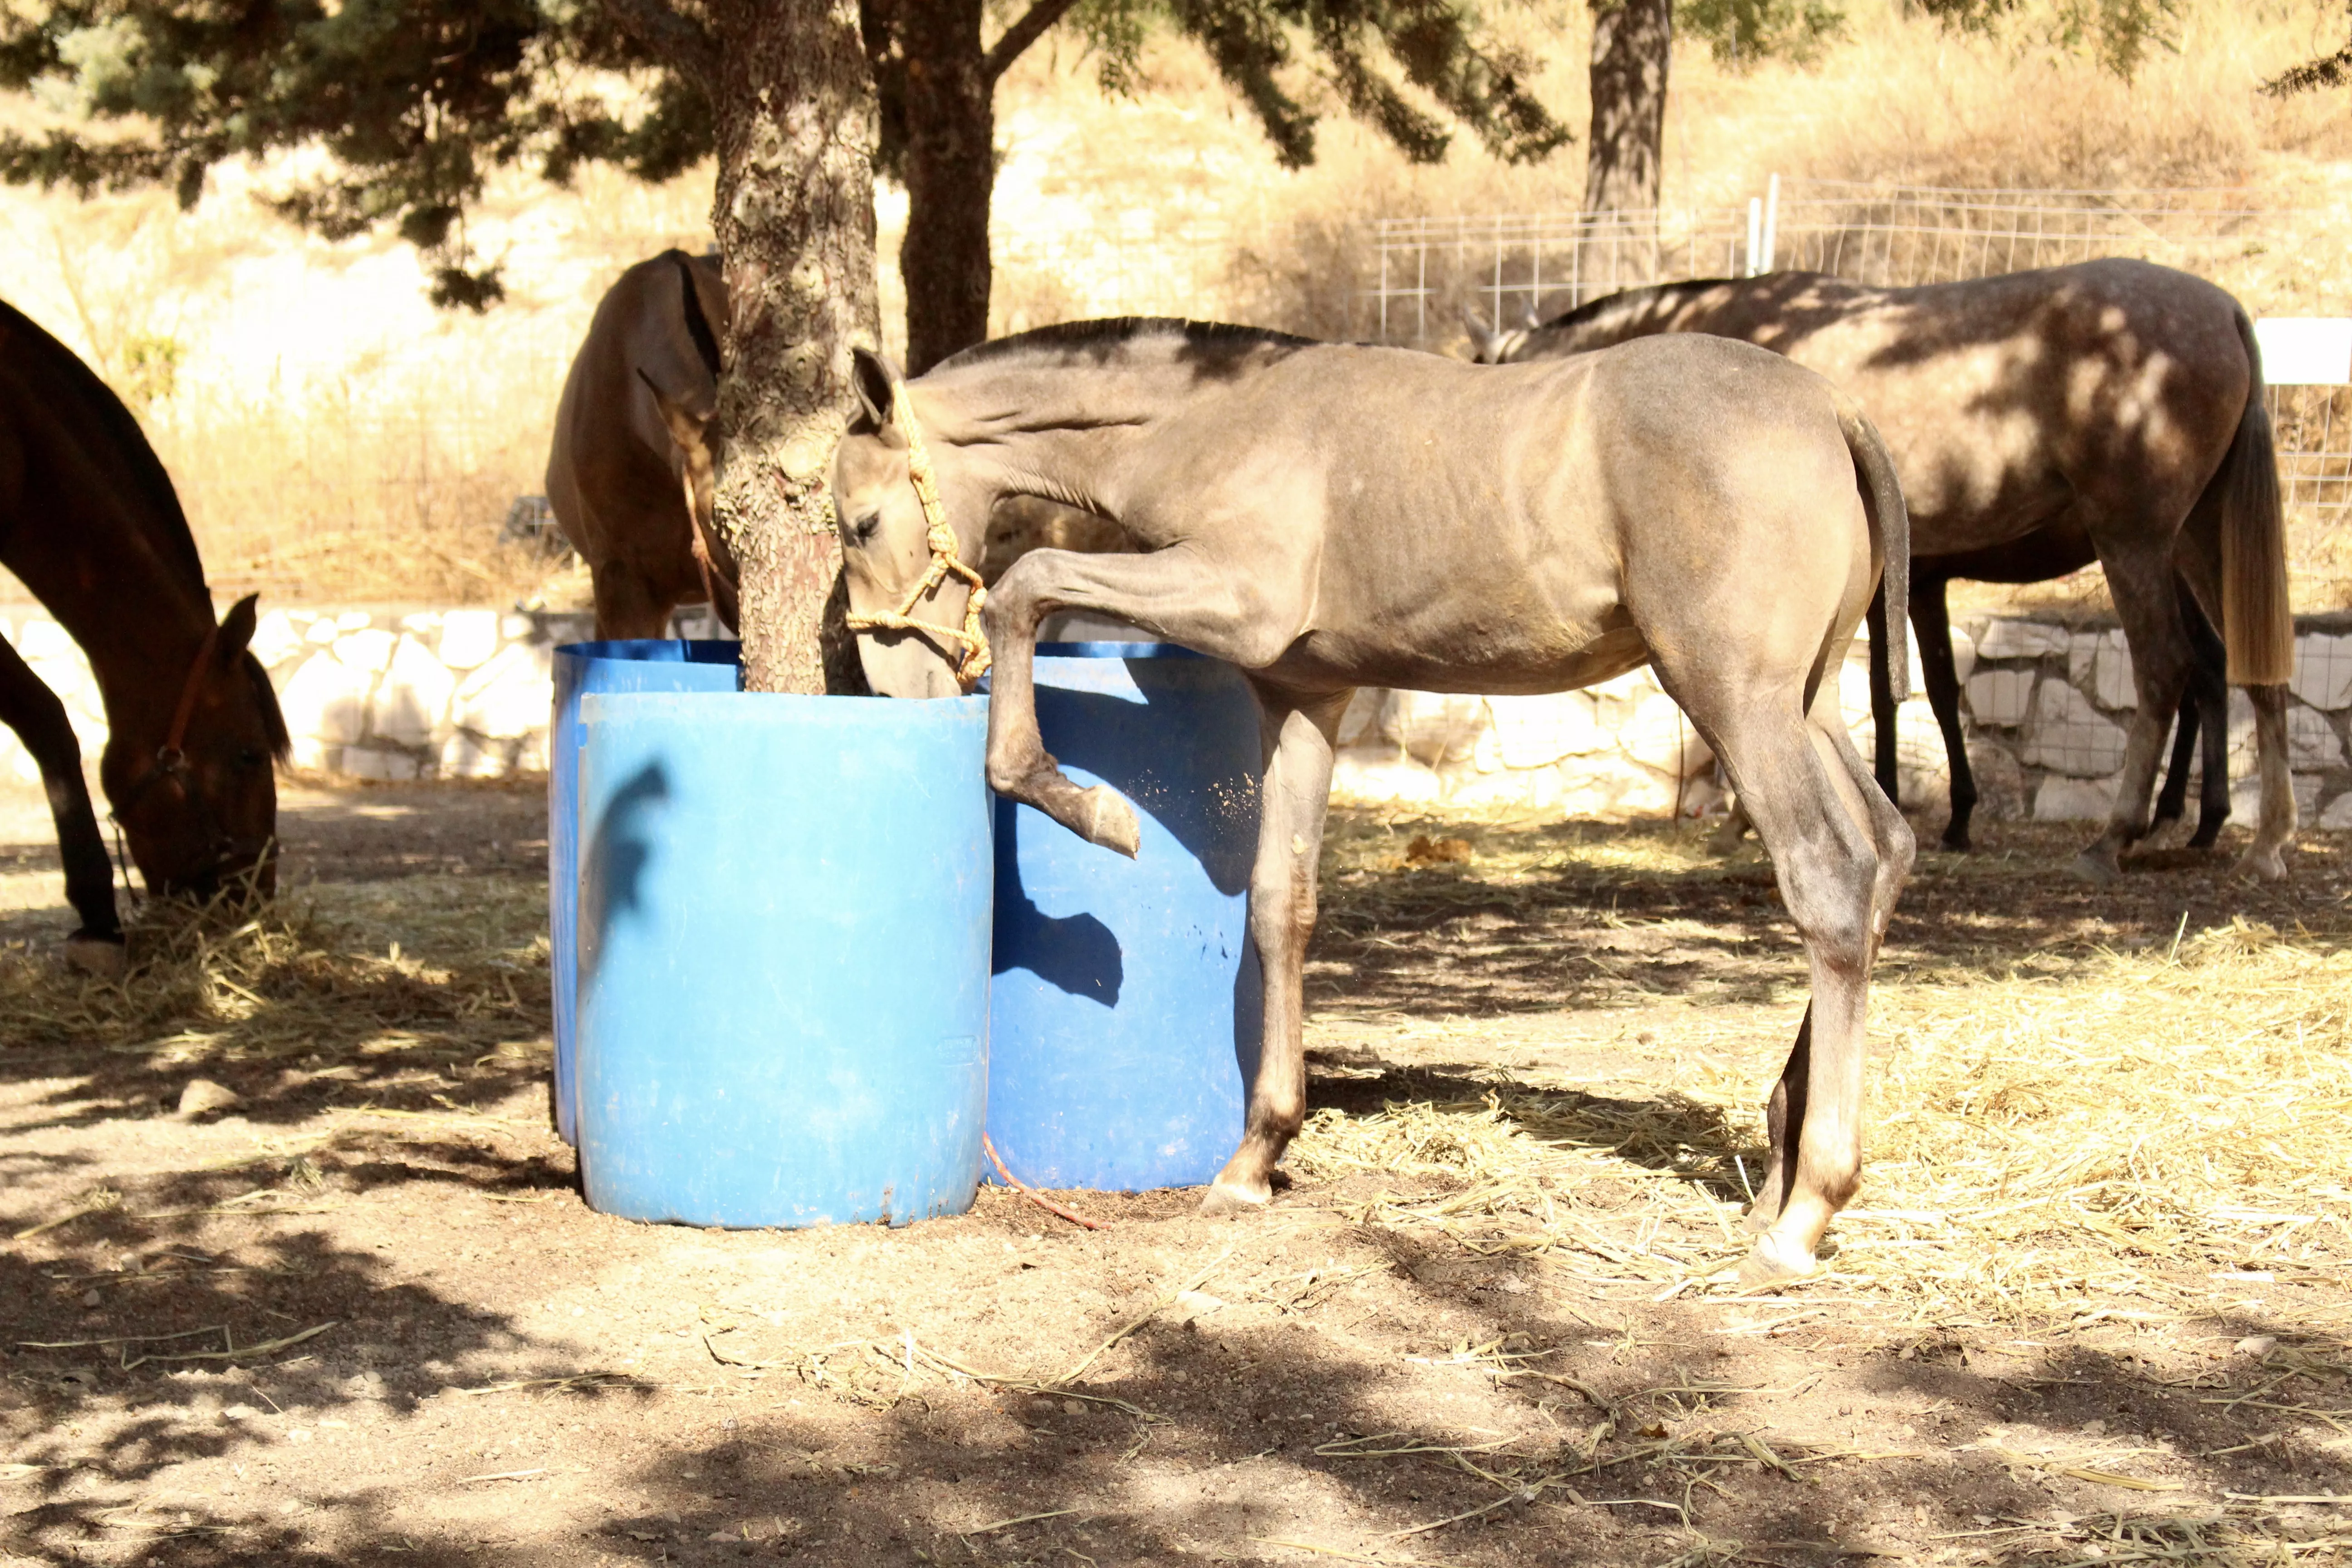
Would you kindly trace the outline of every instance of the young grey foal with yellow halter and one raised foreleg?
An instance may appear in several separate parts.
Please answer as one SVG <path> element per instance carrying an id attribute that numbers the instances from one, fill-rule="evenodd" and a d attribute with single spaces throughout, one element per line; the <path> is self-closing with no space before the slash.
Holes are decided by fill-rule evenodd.
<path id="1" fill-rule="evenodd" d="M 858 350 L 854 383 L 833 505 L 875 691 L 943 696 L 978 672 L 964 559 L 1002 496 L 1082 508 L 1136 545 L 1035 550 L 988 592 L 997 792 L 1136 853 L 1134 809 L 1073 783 L 1037 736 L 1054 611 L 1225 658 L 1258 696 L 1265 1048 L 1204 1208 L 1265 1204 L 1305 1114 L 1301 969 L 1352 691 L 1566 691 L 1649 663 L 1750 797 L 1811 959 L 1743 1272 L 1813 1267 L 1860 1182 L 1870 966 L 1912 863 L 1835 677 L 1882 569 L 1900 592 L 1903 494 L 1828 381 L 1703 336 L 1475 369 L 1124 320 L 985 343 L 910 383 Z"/>

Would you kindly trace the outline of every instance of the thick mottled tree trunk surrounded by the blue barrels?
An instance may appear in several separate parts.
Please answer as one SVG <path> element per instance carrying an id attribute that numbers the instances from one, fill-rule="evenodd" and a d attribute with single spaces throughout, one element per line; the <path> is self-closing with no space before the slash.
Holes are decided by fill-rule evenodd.
<path id="1" fill-rule="evenodd" d="M 715 515 L 743 569 L 743 684 L 814 693 L 854 663 L 826 482 L 849 348 L 882 341 L 873 73 L 856 0 L 710 0 L 708 16 L 729 299 Z"/>

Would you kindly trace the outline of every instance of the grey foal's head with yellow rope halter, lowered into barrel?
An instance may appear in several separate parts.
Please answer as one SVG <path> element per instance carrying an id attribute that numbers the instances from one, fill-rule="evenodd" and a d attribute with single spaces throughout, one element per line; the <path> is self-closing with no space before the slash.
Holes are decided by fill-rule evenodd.
<path id="1" fill-rule="evenodd" d="M 858 404 L 833 454 L 833 517 L 858 663 L 877 696 L 957 696 L 967 684 L 960 675 L 978 672 L 969 639 L 978 576 L 971 562 L 981 559 L 976 524 L 990 498 L 941 494 L 948 517 L 971 522 L 974 536 L 955 534 L 953 555 L 934 548 L 915 491 L 920 433 L 906 381 L 882 355 L 863 348 L 851 355 Z"/>

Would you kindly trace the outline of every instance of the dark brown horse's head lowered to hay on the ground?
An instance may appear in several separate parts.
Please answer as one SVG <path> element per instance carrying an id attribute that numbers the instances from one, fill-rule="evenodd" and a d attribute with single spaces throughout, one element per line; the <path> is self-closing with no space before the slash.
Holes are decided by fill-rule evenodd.
<path id="1" fill-rule="evenodd" d="M 115 715 L 99 778 L 151 891 L 209 900 L 278 886 L 278 778 L 287 722 L 252 656 L 256 595 L 205 635 L 179 679 Z"/>

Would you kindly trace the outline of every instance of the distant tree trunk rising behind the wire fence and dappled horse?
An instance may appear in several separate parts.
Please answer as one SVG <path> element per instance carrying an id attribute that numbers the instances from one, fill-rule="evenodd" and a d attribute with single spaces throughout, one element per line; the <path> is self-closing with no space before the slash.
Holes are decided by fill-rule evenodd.
<path id="1" fill-rule="evenodd" d="M 1672 56 L 1675 0 L 1592 0 L 1592 139 L 1578 303 L 1653 282 Z"/>

